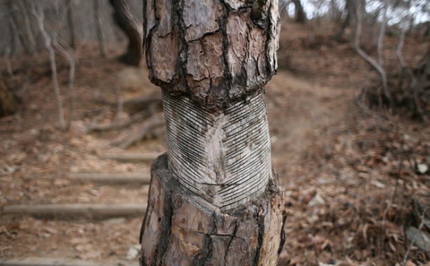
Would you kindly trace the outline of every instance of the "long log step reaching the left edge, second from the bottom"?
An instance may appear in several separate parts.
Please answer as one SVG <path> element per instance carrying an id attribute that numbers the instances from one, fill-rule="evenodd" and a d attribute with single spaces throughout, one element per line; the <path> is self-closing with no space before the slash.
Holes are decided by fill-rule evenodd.
<path id="1" fill-rule="evenodd" d="M 40 204 L 9 205 L 1 208 L 2 214 L 22 214 L 53 217 L 119 217 L 144 215 L 145 204 Z"/>

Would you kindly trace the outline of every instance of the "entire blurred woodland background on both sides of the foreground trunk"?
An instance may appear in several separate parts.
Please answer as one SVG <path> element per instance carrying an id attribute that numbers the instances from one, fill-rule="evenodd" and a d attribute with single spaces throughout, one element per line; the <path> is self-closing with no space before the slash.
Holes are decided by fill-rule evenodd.
<path id="1" fill-rule="evenodd" d="M 429 1 L 279 8 L 279 265 L 430 265 Z M 140 0 L 0 0 L 0 264 L 137 264 L 166 149 L 141 22 Z"/>

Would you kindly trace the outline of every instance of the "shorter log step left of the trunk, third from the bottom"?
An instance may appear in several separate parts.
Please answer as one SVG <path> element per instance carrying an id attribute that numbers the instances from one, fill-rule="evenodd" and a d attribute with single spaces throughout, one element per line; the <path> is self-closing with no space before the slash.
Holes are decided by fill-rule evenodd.
<path id="1" fill-rule="evenodd" d="M 101 183 L 140 183 L 148 184 L 150 175 L 144 173 L 132 174 L 94 174 L 94 173 L 69 173 L 68 178 L 79 179 L 83 181 L 101 182 Z"/>

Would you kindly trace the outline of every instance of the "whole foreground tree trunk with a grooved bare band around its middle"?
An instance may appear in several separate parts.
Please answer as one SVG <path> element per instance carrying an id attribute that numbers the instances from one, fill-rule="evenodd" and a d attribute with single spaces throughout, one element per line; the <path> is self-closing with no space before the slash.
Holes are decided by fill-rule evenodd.
<path id="1" fill-rule="evenodd" d="M 286 213 L 264 85 L 279 27 L 277 0 L 144 1 L 168 150 L 151 167 L 141 265 L 276 265 Z"/>

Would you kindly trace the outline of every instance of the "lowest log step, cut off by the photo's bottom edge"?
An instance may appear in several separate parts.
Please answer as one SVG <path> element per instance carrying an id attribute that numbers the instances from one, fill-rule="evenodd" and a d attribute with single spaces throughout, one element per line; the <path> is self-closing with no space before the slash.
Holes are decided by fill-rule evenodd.
<path id="1" fill-rule="evenodd" d="M 24 258 L 12 260 L 0 260 L 2 266 L 137 266 L 137 262 L 114 260 L 111 263 L 95 263 L 87 260 L 69 260 L 66 258 Z"/>

